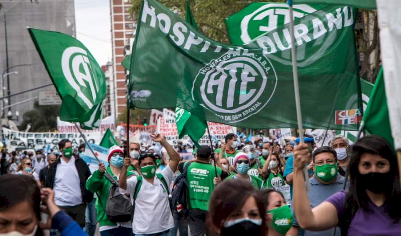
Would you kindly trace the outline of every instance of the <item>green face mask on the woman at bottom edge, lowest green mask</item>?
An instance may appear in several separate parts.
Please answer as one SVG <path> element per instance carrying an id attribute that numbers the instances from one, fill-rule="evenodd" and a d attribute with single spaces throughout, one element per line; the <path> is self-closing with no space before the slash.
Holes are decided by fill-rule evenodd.
<path id="1" fill-rule="evenodd" d="M 270 224 L 276 232 L 280 234 L 285 234 L 290 230 L 294 218 L 290 207 L 285 205 L 273 210 L 269 210 L 268 214 L 272 214 L 272 223 Z"/>

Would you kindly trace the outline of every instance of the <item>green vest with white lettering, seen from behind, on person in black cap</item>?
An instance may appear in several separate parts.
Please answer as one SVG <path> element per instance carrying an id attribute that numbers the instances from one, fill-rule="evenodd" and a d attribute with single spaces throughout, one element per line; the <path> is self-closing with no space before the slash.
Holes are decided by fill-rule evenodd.
<path id="1" fill-rule="evenodd" d="M 213 184 L 213 178 L 216 177 L 215 167 L 211 164 L 192 162 L 185 163 L 190 164 L 188 172 L 186 174 L 186 180 L 189 186 L 189 208 L 208 210 L 209 198 L 212 194 L 212 190 L 215 188 Z M 222 169 L 217 168 L 217 175 L 222 174 Z"/>

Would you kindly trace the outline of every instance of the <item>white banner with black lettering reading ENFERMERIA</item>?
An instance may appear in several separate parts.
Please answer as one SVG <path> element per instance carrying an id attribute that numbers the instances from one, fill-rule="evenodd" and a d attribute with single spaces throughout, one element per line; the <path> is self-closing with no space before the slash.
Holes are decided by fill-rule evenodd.
<path id="1" fill-rule="evenodd" d="M 39 149 L 46 148 L 49 144 L 50 149 L 58 150 L 58 143 L 63 139 L 69 139 L 73 147 L 85 143 L 79 133 L 55 133 L 55 132 L 21 132 L 3 128 L 3 135 L 7 149 L 14 151 L 16 148 Z M 85 138 L 90 143 L 99 144 L 102 140 L 100 131 L 84 133 Z"/>

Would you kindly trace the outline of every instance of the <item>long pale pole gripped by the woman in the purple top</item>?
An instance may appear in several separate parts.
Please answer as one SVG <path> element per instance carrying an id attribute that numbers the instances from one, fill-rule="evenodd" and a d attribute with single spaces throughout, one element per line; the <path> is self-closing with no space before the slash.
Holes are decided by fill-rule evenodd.
<path id="1" fill-rule="evenodd" d="M 298 71 L 297 71 L 297 56 L 295 51 L 295 36 L 294 36 L 294 16 L 292 9 L 292 0 L 287 0 L 288 9 L 290 12 L 290 35 L 291 35 L 291 56 L 292 56 L 292 72 L 294 76 L 294 91 L 295 91 L 295 106 L 297 109 L 297 120 L 299 129 L 299 142 L 304 143 L 304 134 L 302 127 L 302 114 L 301 114 L 301 101 L 299 97 L 299 84 L 298 84 Z M 309 190 L 309 175 L 307 166 L 304 168 L 305 187 L 306 191 Z"/>

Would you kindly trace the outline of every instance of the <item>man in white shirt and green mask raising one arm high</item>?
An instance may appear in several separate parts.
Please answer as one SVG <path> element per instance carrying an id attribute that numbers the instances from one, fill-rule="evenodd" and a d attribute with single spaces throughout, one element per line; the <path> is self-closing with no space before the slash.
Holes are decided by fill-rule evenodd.
<path id="1" fill-rule="evenodd" d="M 134 191 L 141 179 L 140 189 L 135 200 L 134 220 L 132 230 L 135 235 L 167 236 L 174 227 L 174 220 L 168 199 L 168 185 L 171 183 L 179 163 L 179 155 L 160 134 L 151 134 L 154 142 L 159 142 L 168 152 L 170 161 L 167 167 L 156 175 L 156 158 L 152 153 L 143 153 L 139 157 L 141 175 L 127 180 L 126 172 L 130 158 L 124 159 L 119 185 L 120 193 L 130 194 L 134 201 Z M 167 185 L 167 186 L 166 186 Z"/>

